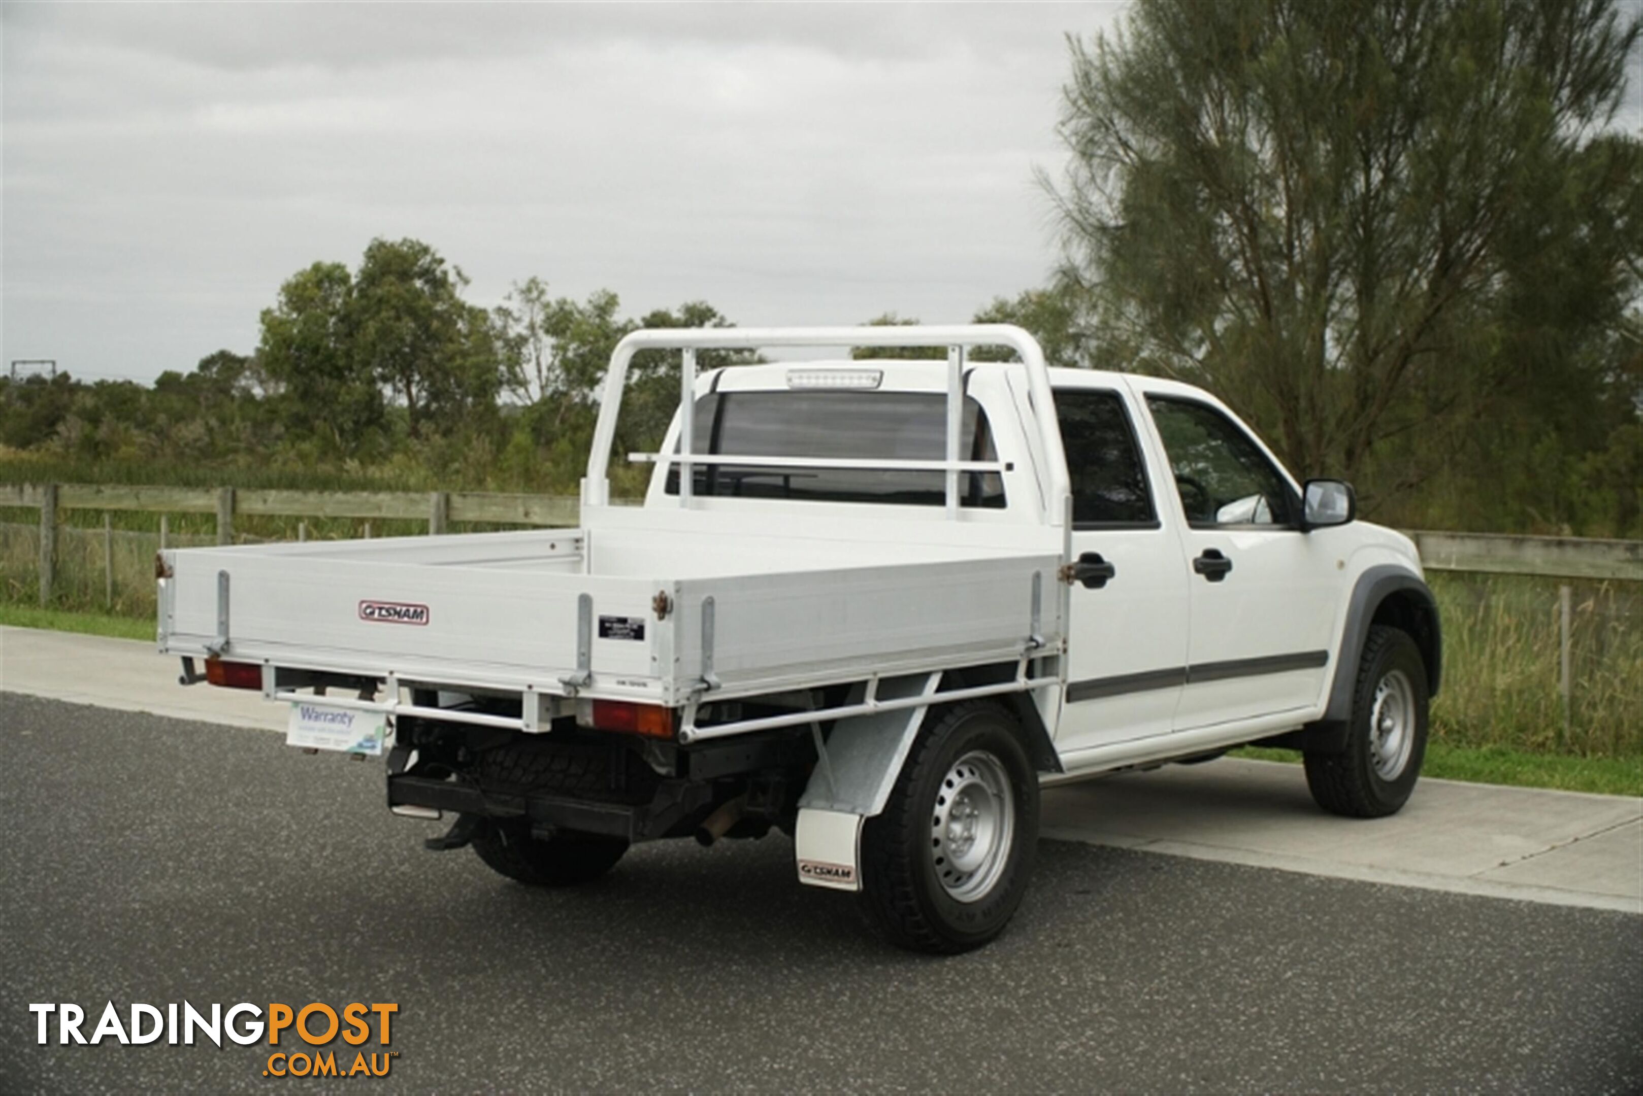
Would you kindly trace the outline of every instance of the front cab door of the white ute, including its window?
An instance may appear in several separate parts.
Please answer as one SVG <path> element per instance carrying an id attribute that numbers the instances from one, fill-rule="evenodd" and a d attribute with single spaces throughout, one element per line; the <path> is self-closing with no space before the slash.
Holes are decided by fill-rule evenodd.
<path id="1" fill-rule="evenodd" d="M 1331 662 L 1341 562 L 1300 524 L 1300 493 L 1222 408 L 1145 389 L 1183 518 L 1191 606 L 1175 728 L 1270 720 L 1316 707 Z"/>

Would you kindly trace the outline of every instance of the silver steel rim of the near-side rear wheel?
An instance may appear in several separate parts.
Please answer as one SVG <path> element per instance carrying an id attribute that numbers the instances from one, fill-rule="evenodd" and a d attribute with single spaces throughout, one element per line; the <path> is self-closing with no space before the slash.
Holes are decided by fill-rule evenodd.
<path id="1" fill-rule="evenodd" d="M 960 902 L 984 899 L 1004 874 L 1015 835 L 1015 794 L 1004 764 L 976 749 L 941 777 L 930 818 L 930 861 Z"/>

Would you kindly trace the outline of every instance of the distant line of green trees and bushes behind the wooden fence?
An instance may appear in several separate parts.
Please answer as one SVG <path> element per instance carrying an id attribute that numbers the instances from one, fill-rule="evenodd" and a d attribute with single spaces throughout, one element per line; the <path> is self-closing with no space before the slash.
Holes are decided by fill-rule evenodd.
<path id="1" fill-rule="evenodd" d="M 407 276 L 383 278 L 388 258 Z M 729 325 L 702 301 L 624 317 L 614 292 L 555 299 L 537 278 L 481 309 L 462 299 L 463 284 L 427 245 L 378 240 L 358 273 L 315 263 L 294 274 L 251 353 L 219 350 L 153 386 L 0 376 L 0 478 L 575 493 L 616 342 L 637 327 Z M 1020 324 L 1052 365 L 1148 365 L 1111 360 L 1066 284 L 996 299 L 974 320 Z M 702 368 L 741 360 L 703 353 Z M 619 455 L 654 449 L 674 411 L 667 365 L 657 352 L 636 357 L 618 488 L 639 490 L 647 468 Z M 1643 536 L 1640 408 L 1635 350 L 1608 368 L 1526 370 L 1466 419 L 1433 416 L 1357 468 L 1314 472 L 1354 477 L 1370 514 L 1411 526 Z M 1277 442 L 1259 406 L 1237 409 Z"/>

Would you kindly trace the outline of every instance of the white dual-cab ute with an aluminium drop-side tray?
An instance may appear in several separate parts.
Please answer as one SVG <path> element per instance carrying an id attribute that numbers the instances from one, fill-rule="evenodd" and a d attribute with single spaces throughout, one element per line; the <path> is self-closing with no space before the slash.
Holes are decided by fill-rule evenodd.
<path id="1" fill-rule="evenodd" d="M 697 375 L 795 347 L 831 357 Z M 637 350 L 688 398 L 616 506 Z M 1354 506 L 1213 396 L 1047 368 L 1017 327 L 641 330 L 580 527 L 169 550 L 159 649 L 289 705 L 296 746 L 386 753 L 396 813 L 453 815 L 430 848 L 521 882 L 774 827 L 800 882 L 963 951 L 1022 900 L 1040 785 L 1265 743 L 1324 810 L 1403 805 L 1438 611 Z"/>

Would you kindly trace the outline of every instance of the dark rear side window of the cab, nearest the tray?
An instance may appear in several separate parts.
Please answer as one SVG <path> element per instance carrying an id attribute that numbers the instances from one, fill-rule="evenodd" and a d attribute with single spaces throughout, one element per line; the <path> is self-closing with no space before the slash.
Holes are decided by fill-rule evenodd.
<path id="1" fill-rule="evenodd" d="M 1073 483 L 1073 527 L 1157 527 L 1135 429 L 1119 394 L 1063 388 L 1055 393 L 1055 414 Z"/>

